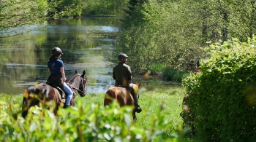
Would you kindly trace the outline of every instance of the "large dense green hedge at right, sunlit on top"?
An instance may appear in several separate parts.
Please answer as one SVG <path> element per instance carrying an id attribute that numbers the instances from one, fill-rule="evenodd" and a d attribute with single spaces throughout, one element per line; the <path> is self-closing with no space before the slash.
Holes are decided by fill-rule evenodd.
<path id="1" fill-rule="evenodd" d="M 200 73 L 184 79 L 184 124 L 197 141 L 255 141 L 256 37 L 209 47 Z"/>

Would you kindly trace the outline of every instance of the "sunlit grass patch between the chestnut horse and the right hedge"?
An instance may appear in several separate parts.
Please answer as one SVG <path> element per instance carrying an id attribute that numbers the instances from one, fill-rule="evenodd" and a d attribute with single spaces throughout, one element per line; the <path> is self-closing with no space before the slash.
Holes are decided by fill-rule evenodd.
<path id="1" fill-rule="evenodd" d="M 184 90 L 181 87 L 170 87 L 165 90 L 156 89 L 144 92 L 140 95 L 139 102 L 143 108 L 143 113 L 138 114 L 138 122 L 143 127 L 149 127 L 153 125 L 151 119 L 157 113 L 161 113 L 165 116 L 166 121 L 171 122 L 170 127 L 166 127 L 166 131 L 176 130 L 178 125 L 182 124 L 179 113 L 182 111 L 181 103 L 183 96 Z"/>

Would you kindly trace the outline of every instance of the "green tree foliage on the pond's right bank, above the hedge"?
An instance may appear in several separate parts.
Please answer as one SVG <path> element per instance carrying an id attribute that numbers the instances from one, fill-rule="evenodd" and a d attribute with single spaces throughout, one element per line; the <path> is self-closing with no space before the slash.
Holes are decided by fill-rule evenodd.
<path id="1" fill-rule="evenodd" d="M 109 60 L 126 52 L 129 65 L 138 73 L 151 70 L 154 63 L 191 71 L 209 43 L 233 37 L 245 42 L 252 37 L 255 14 L 255 1 L 148 0 L 128 5 Z"/>

